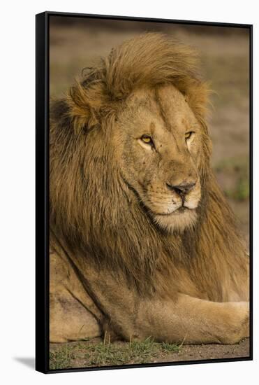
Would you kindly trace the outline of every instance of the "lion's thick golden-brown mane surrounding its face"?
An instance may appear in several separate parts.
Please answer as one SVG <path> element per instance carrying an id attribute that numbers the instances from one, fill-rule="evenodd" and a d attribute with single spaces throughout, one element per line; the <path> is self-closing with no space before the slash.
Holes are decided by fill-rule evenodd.
<path id="1" fill-rule="evenodd" d="M 185 95 L 204 133 L 200 220 L 182 235 L 163 233 L 149 221 L 121 181 L 110 146 L 110 127 L 128 95 L 165 83 Z M 197 282 L 212 296 L 208 287 L 218 287 L 225 271 L 231 272 L 225 279 L 235 281 L 245 251 L 209 166 L 208 92 L 195 52 L 162 34 L 143 34 L 112 50 L 66 99 L 52 102 L 50 227 L 86 268 L 122 276 L 142 295 L 172 288 L 184 293 L 187 286 L 195 295 Z M 218 293 L 213 300 L 224 298 L 220 287 Z"/>

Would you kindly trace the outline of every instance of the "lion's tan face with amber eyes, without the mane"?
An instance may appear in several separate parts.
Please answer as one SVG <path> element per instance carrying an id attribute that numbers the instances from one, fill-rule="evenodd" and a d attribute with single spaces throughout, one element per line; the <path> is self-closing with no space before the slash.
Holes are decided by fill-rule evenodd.
<path id="1" fill-rule="evenodd" d="M 135 91 L 115 127 L 124 182 L 161 228 L 184 230 L 197 218 L 202 129 L 173 85 Z"/>

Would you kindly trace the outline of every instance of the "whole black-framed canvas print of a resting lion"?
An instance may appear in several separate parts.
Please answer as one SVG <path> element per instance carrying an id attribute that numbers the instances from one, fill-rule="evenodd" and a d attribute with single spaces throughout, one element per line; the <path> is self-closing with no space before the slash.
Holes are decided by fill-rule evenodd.
<path id="1" fill-rule="evenodd" d="M 252 359 L 251 59 L 251 25 L 36 15 L 36 370 Z"/>

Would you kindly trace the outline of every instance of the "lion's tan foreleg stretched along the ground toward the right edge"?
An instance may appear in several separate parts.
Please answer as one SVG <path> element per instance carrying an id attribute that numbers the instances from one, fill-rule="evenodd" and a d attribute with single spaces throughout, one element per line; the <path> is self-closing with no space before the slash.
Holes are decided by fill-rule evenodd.
<path id="1" fill-rule="evenodd" d="M 249 302 L 212 302 L 182 293 L 175 293 L 174 300 L 156 294 L 140 297 L 124 281 L 96 272 L 90 265 L 87 269 L 82 283 L 93 293 L 108 331 L 120 338 L 232 344 L 249 336 Z M 101 327 L 107 330 L 103 322 Z"/>

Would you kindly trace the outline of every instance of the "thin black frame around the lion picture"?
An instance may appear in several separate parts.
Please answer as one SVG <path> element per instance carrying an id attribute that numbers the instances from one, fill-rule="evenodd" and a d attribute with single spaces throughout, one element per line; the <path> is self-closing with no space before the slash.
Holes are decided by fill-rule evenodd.
<path id="1" fill-rule="evenodd" d="M 97 18 L 107 20 L 133 20 L 142 22 L 175 23 L 181 25 L 206 25 L 215 27 L 238 27 L 249 29 L 249 248 L 250 248 L 250 356 L 244 358 L 214 358 L 168 363 L 145 363 L 141 365 L 114 365 L 61 370 L 49 368 L 49 99 L 50 99 L 50 17 Z M 78 372 L 89 370 L 123 369 L 124 367 L 158 367 L 164 365 L 187 365 L 253 360 L 253 25 L 135 18 L 82 13 L 43 12 L 36 15 L 36 370 L 43 373 Z"/>

